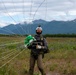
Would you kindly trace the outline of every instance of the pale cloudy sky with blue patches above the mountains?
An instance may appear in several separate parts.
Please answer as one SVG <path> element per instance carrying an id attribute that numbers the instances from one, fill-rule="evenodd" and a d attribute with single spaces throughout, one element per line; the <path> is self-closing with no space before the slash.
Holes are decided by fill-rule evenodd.
<path id="1" fill-rule="evenodd" d="M 0 27 L 36 19 L 73 20 L 76 0 L 0 0 Z"/>

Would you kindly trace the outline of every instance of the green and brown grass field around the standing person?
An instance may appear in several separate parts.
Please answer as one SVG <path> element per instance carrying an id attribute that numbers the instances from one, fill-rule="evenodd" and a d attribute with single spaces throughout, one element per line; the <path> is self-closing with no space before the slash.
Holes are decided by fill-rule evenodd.
<path id="1" fill-rule="evenodd" d="M 46 38 L 50 53 L 43 59 L 47 75 L 76 75 L 76 38 Z M 0 37 L 0 75 L 27 75 L 30 50 L 24 37 Z M 40 75 L 35 65 L 34 75 Z"/>

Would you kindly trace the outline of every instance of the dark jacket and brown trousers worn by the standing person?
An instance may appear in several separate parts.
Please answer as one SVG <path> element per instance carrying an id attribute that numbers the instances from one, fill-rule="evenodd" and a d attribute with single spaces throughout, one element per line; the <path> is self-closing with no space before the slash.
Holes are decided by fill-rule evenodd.
<path id="1" fill-rule="evenodd" d="M 43 69 L 42 58 L 44 56 L 44 50 L 46 50 L 48 48 L 47 42 L 46 42 L 45 38 L 42 37 L 42 35 L 38 35 L 38 34 L 35 35 L 35 39 L 37 41 L 35 41 L 34 43 L 32 43 L 31 46 L 28 47 L 29 49 L 31 49 L 29 75 L 33 75 L 34 66 L 35 66 L 36 61 L 37 61 L 38 69 L 41 72 L 41 74 L 46 75 L 44 72 L 44 69 Z M 38 45 L 41 45 L 44 48 L 36 49 L 36 45 L 37 45 L 36 42 L 38 42 Z"/>

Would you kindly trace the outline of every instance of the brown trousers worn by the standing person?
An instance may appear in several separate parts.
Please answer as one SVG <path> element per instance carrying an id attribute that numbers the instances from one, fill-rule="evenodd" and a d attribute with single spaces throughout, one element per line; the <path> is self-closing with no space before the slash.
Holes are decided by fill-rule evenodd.
<path id="1" fill-rule="evenodd" d="M 30 56 L 29 75 L 33 75 L 33 73 L 34 73 L 34 66 L 35 66 L 35 62 L 36 61 L 37 61 L 38 69 L 41 72 L 41 75 L 46 75 L 44 70 L 43 70 L 42 54 L 39 54 L 38 56 L 34 56 L 34 55 Z"/>

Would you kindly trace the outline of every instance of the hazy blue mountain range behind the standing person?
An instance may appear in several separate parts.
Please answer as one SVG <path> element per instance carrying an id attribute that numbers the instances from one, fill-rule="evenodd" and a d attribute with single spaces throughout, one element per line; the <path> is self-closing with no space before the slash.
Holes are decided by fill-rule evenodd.
<path id="1" fill-rule="evenodd" d="M 76 19 L 71 21 L 45 21 L 42 19 L 34 20 L 32 23 L 10 24 L 0 28 L 3 34 L 35 34 L 38 25 L 43 28 L 43 34 L 76 34 Z"/>

